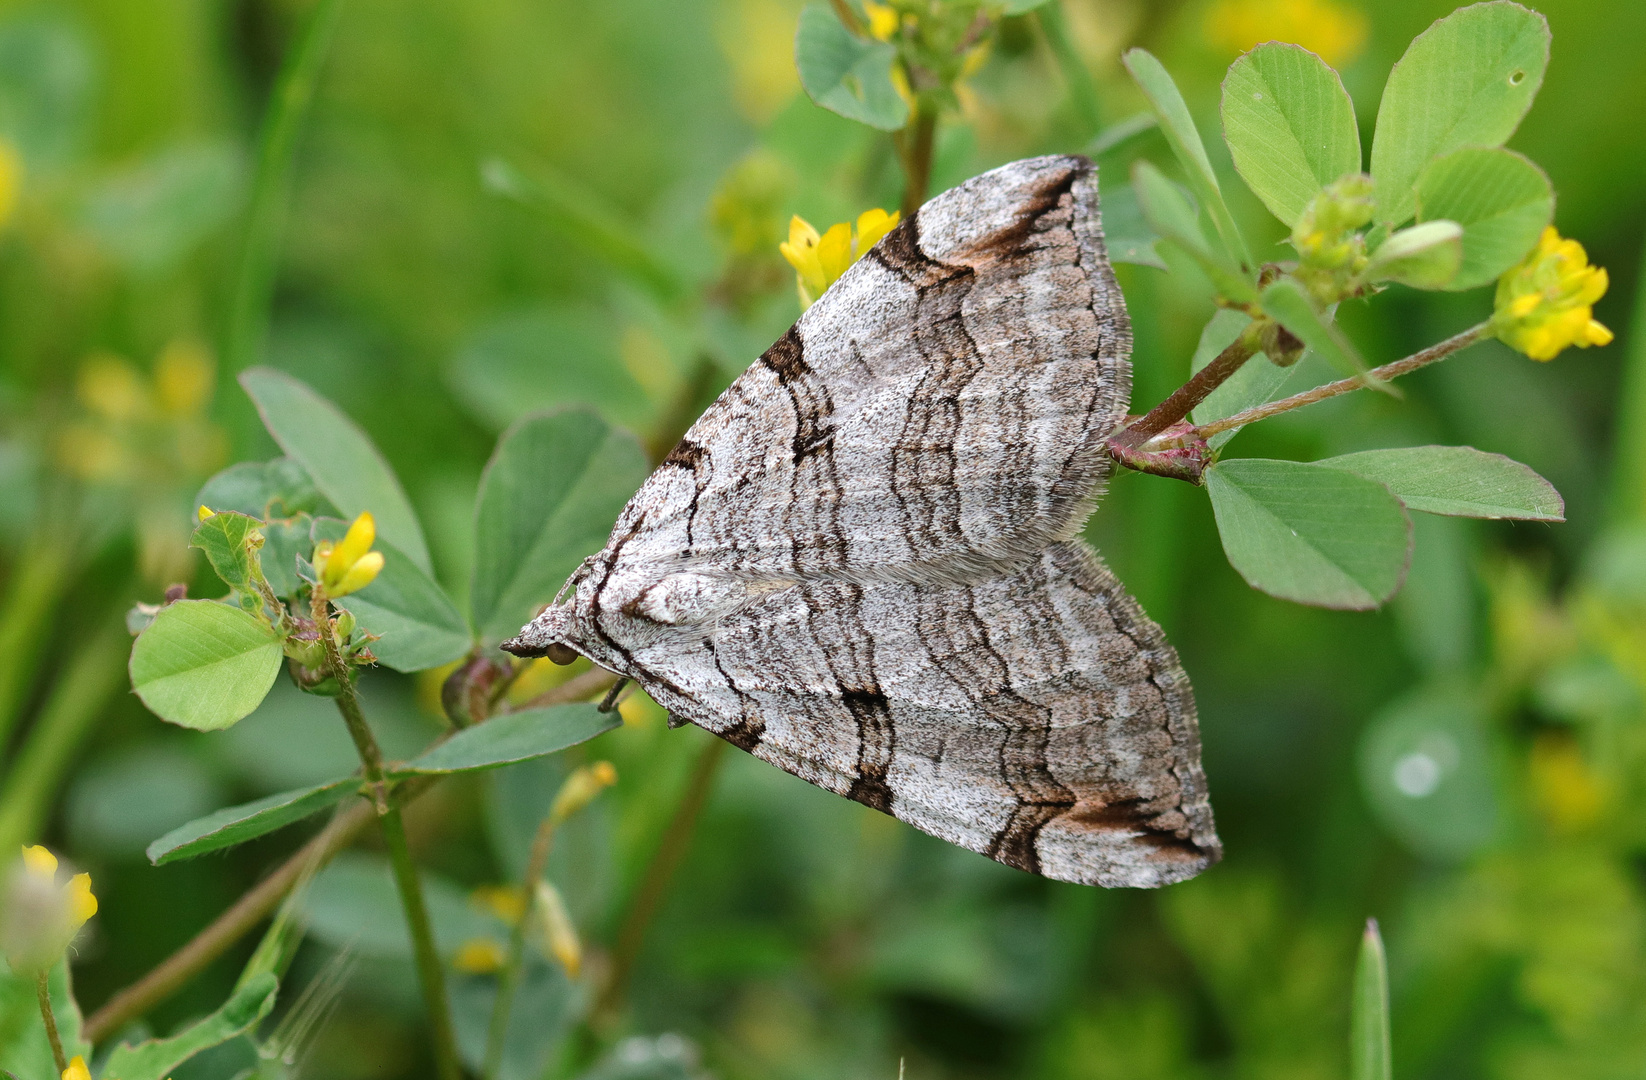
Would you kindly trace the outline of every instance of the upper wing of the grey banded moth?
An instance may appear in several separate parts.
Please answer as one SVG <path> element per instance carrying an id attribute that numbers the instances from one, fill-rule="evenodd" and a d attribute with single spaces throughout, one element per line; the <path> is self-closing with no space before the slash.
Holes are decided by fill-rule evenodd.
<path id="1" fill-rule="evenodd" d="M 1090 514 L 1129 351 L 1091 163 L 984 173 L 902 221 L 698 418 L 634 500 L 632 555 L 851 576 L 1029 558 Z"/>

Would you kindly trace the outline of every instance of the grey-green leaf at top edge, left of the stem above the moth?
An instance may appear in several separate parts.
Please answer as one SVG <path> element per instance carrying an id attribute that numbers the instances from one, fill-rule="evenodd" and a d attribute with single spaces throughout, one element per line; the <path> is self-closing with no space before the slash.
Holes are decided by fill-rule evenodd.
<path id="1" fill-rule="evenodd" d="M 866 41 L 839 25 L 825 3 L 810 3 L 795 31 L 795 66 L 807 95 L 830 112 L 882 132 L 909 123 L 909 102 L 892 84 L 897 49 Z"/>

